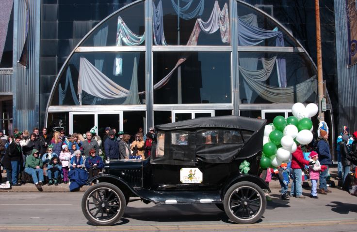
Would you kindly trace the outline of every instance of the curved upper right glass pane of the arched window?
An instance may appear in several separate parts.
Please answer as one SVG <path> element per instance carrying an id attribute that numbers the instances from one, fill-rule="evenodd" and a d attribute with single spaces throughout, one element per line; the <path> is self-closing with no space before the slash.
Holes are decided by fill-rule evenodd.
<path id="1" fill-rule="evenodd" d="M 257 21 L 255 22 L 255 20 L 251 20 L 251 17 L 247 17 L 250 16 L 249 14 L 255 15 L 257 17 Z M 268 18 L 264 14 L 261 14 L 257 10 L 248 7 L 244 4 L 238 3 L 238 17 L 240 18 L 238 22 L 247 22 L 248 24 L 258 27 L 260 29 L 273 30 L 277 27 L 278 31 L 281 31 L 283 33 L 284 45 L 286 47 L 298 47 L 298 45 L 292 41 L 290 35 L 288 35 L 282 28 L 277 26 L 272 19 Z M 249 21 L 247 21 L 248 18 Z M 238 30 L 243 31 L 242 29 L 240 30 L 240 27 L 243 26 L 238 23 Z M 239 45 L 246 46 L 241 42 L 239 42 Z M 276 46 L 276 37 L 274 36 L 272 38 L 262 39 L 261 43 L 255 44 L 255 46 Z"/>

